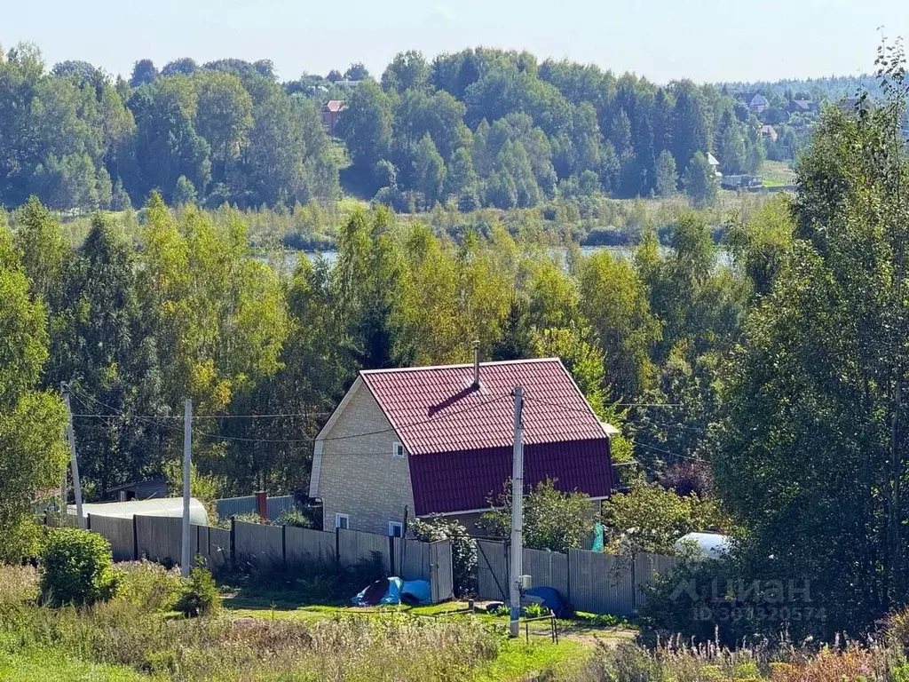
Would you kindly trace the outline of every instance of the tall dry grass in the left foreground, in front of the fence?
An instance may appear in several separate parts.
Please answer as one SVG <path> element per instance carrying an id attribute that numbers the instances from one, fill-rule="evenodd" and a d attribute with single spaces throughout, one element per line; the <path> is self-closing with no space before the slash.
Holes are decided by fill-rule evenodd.
<path id="1" fill-rule="evenodd" d="M 35 571 L 0 568 L 0 653 L 54 651 L 172 680 L 446 680 L 474 677 L 502 638 L 474 620 L 381 617 L 268 621 L 184 618 L 171 602 L 172 573 L 126 569 L 129 590 L 93 607 L 37 603 Z"/>

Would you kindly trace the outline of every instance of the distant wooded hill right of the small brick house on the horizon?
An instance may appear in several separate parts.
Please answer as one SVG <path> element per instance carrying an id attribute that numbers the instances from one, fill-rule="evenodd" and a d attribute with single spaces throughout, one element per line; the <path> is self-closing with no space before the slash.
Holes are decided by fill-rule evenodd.
<path id="1" fill-rule="evenodd" d="M 476 48 L 431 64 L 406 52 L 346 105 L 349 181 L 399 210 L 681 187 L 709 200 L 708 152 L 731 174 L 754 173 L 764 159 L 757 119 L 713 85 L 660 87 L 594 65 L 538 64 L 526 52 Z"/>

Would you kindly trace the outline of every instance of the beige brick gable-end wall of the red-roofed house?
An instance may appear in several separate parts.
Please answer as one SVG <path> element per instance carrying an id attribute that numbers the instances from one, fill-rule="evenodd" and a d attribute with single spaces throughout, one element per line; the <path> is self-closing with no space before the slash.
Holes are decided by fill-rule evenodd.
<path id="1" fill-rule="evenodd" d="M 362 379 L 335 424 L 323 434 L 318 494 L 325 530 L 335 529 L 335 514 L 350 515 L 350 527 L 387 533 L 389 521 L 400 521 L 405 506 L 414 514 L 414 489 L 407 458 L 393 457 L 397 441 L 375 398 Z M 382 431 L 383 433 L 373 433 Z M 345 437 L 370 434 L 371 436 Z"/>

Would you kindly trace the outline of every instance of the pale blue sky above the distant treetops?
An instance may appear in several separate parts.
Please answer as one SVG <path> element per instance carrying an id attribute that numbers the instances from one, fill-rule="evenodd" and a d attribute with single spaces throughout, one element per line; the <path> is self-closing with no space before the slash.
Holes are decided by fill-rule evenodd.
<path id="1" fill-rule="evenodd" d="M 128 75 L 150 57 L 270 58 L 281 79 L 395 53 L 525 48 L 658 83 L 854 75 L 878 26 L 909 36 L 909 0 L 0 0 L 0 45 L 48 65 L 85 59 Z"/>

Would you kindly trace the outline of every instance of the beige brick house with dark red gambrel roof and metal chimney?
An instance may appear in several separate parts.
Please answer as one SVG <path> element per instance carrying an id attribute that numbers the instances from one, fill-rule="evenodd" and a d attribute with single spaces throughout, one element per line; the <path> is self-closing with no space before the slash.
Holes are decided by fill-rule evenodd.
<path id="1" fill-rule="evenodd" d="M 399 535 L 405 517 L 474 528 L 512 474 L 524 390 L 524 486 L 610 496 L 609 438 L 558 358 L 360 372 L 316 436 L 309 495 L 325 530 Z"/>

